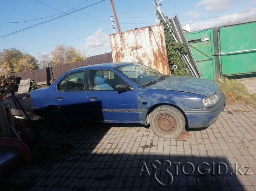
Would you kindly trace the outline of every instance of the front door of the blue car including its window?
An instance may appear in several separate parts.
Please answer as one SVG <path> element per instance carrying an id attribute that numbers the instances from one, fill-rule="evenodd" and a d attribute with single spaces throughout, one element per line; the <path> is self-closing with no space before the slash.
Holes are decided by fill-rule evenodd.
<path id="1" fill-rule="evenodd" d="M 88 75 L 88 102 L 92 121 L 111 123 L 140 123 L 138 87 L 116 91 L 117 84 L 126 83 L 117 73 L 108 69 L 92 69 Z"/>

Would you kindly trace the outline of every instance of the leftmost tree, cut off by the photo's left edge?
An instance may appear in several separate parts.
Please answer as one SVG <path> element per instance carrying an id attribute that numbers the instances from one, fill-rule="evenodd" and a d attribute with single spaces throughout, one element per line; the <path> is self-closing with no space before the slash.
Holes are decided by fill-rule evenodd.
<path id="1" fill-rule="evenodd" d="M 0 51 L 0 73 L 8 74 L 13 72 L 13 59 L 20 59 L 22 55 L 21 51 L 16 48 L 3 49 L 3 51 Z"/>

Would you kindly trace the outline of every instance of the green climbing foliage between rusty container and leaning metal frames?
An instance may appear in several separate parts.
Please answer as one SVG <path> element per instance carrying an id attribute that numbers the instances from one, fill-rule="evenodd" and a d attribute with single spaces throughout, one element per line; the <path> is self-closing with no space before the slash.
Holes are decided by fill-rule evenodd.
<path id="1" fill-rule="evenodd" d="M 165 43 L 167 49 L 168 63 L 170 65 L 170 70 L 174 76 L 192 76 L 186 71 L 186 62 L 181 57 L 181 54 L 186 54 L 188 50 L 182 43 L 176 43 L 175 39 L 172 36 L 168 26 L 165 24 L 162 17 L 157 13 L 160 23 L 164 24 L 164 33 L 165 33 Z M 168 17 L 167 17 L 168 19 Z M 169 19 L 169 22 L 172 24 L 172 20 Z M 177 70 L 172 68 L 173 65 L 177 65 Z"/>

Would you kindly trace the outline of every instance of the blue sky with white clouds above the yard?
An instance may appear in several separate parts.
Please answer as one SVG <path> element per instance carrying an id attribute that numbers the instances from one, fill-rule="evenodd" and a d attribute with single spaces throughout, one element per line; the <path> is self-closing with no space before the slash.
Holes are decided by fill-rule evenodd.
<path id="1" fill-rule="evenodd" d="M 159 2 L 159 0 L 156 0 Z M 122 31 L 159 23 L 152 0 L 114 0 Z M 164 0 L 190 31 L 256 20 L 256 0 Z M 67 14 L 68 13 L 68 14 Z M 17 48 L 36 58 L 57 45 L 94 56 L 111 52 L 110 0 L 0 0 L 0 51 Z M 116 27 L 115 21 L 114 25 Z"/>

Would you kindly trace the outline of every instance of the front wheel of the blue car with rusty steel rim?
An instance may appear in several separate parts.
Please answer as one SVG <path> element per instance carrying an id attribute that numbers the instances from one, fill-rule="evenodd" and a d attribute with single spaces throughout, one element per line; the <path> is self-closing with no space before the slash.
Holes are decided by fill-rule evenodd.
<path id="1" fill-rule="evenodd" d="M 162 105 L 149 115 L 154 134 L 161 138 L 174 139 L 180 136 L 186 126 L 184 115 L 175 107 Z"/>

